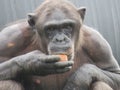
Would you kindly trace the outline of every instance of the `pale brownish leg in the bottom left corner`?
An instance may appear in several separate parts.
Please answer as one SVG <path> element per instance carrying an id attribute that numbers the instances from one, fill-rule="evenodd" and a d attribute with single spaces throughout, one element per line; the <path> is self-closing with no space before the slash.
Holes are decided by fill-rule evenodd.
<path id="1" fill-rule="evenodd" d="M 6 80 L 6 81 L 0 81 L 0 90 L 24 90 L 22 85 L 12 81 L 12 80 Z"/>

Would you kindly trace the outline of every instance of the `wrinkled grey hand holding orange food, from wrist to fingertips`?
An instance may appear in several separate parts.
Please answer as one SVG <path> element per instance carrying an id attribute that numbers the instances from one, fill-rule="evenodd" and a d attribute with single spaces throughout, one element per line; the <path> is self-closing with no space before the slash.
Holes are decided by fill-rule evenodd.
<path id="1" fill-rule="evenodd" d="M 15 63 L 24 71 L 33 75 L 64 73 L 71 69 L 73 61 L 59 62 L 57 55 L 45 55 L 36 50 L 19 56 Z"/>

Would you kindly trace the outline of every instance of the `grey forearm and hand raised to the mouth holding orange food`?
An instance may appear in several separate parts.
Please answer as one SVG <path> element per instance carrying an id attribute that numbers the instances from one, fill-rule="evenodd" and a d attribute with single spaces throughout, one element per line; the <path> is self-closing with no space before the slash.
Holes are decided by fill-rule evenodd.
<path id="1" fill-rule="evenodd" d="M 59 62 L 57 55 L 45 55 L 38 50 L 14 57 L 0 64 L 0 80 L 12 79 L 17 75 L 39 75 L 64 73 L 71 69 L 73 61 Z"/>

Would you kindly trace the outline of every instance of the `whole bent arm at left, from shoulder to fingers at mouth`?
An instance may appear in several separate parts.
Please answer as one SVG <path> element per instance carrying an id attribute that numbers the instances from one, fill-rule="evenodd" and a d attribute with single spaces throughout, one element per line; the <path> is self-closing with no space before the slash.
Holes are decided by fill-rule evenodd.
<path id="1" fill-rule="evenodd" d="M 69 71 L 72 61 L 58 62 L 56 55 L 45 55 L 39 50 L 34 50 L 20 56 L 14 56 L 24 48 L 25 37 L 17 27 L 9 27 L 0 32 L 0 80 L 16 78 L 19 74 L 49 75 Z M 27 39 L 28 41 L 29 39 Z"/>

